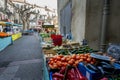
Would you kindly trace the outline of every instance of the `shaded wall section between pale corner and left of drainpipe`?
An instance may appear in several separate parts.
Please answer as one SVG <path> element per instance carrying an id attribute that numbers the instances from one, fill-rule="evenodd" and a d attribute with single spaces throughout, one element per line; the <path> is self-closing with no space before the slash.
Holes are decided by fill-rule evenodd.
<path id="1" fill-rule="evenodd" d="M 86 7 L 85 39 L 92 48 L 98 49 L 100 46 L 103 0 L 87 0 Z"/>

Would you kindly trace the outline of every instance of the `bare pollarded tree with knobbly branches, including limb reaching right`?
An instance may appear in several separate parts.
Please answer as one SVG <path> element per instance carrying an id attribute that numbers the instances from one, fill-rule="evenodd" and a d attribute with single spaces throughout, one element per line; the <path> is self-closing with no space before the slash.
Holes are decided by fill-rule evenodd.
<path id="1" fill-rule="evenodd" d="M 49 12 L 54 13 L 54 11 L 50 10 L 47 6 L 41 7 L 41 6 L 38 6 L 38 5 L 32 5 L 32 4 L 25 3 L 25 2 L 23 3 L 22 6 L 19 6 L 19 5 L 16 5 L 15 3 L 13 3 L 12 0 L 10 0 L 10 2 L 11 2 L 11 5 L 15 8 L 16 12 L 19 14 L 21 20 L 22 20 L 23 30 L 29 29 L 31 14 L 34 14 L 36 19 L 39 18 L 38 17 L 39 11 L 36 12 L 34 10 L 35 7 L 45 9 L 45 11 L 48 12 L 48 14 L 47 14 L 48 15 L 48 18 L 47 18 L 48 22 L 50 22 L 50 20 L 51 20 Z"/>

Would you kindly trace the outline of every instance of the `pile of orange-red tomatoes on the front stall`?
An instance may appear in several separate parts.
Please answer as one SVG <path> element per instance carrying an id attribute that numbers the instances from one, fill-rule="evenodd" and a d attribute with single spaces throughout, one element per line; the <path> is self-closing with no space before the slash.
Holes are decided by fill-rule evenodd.
<path id="1" fill-rule="evenodd" d="M 86 54 L 73 54 L 73 55 L 57 55 L 49 59 L 48 64 L 51 69 L 60 69 L 67 65 L 77 66 L 79 62 L 94 64 L 96 60 L 90 56 L 90 53 Z"/>

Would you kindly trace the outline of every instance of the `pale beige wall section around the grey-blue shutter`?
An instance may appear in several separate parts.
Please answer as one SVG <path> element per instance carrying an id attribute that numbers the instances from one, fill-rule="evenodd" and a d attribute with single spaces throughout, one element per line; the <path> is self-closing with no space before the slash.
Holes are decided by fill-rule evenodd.
<path id="1" fill-rule="evenodd" d="M 58 25 L 60 25 L 60 11 L 67 5 L 70 0 L 58 0 Z M 72 20 L 71 31 L 73 39 L 77 42 L 81 42 L 84 39 L 85 32 L 85 15 L 86 15 L 86 0 L 71 0 L 72 1 Z M 63 31 L 61 30 L 63 34 Z"/>

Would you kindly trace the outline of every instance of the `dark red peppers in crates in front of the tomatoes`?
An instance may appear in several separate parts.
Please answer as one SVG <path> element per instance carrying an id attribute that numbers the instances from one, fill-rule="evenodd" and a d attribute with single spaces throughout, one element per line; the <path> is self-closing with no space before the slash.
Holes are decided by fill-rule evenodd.
<path id="1" fill-rule="evenodd" d="M 58 71 L 50 71 L 50 80 L 87 80 L 77 67 L 67 66 Z"/>

